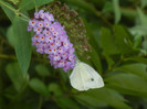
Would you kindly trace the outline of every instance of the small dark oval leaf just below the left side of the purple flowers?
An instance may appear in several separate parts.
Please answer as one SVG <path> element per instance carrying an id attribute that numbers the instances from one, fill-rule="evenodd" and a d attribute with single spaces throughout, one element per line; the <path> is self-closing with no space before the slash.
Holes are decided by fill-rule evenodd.
<path id="1" fill-rule="evenodd" d="M 50 75 L 48 67 L 44 65 L 41 65 L 41 64 L 35 66 L 35 70 L 40 76 L 49 76 Z"/>

